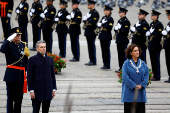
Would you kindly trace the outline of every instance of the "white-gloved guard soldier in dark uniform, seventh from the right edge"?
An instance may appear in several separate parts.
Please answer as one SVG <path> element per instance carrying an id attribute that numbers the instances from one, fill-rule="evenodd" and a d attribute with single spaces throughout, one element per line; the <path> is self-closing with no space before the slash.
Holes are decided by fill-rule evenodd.
<path id="1" fill-rule="evenodd" d="M 73 58 L 69 61 L 76 62 L 79 61 L 80 58 L 80 45 L 79 45 L 79 35 L 81 34 L 81 19 L 82 13 L 79 10 L 79 0 L 72 0 L 72 11 L 70 15 L 67 15 L 67 19 L 70 20 L 70 26 L 68 33 L 70 34 L 71 40 L 71 50 L 73 53 Z"/>

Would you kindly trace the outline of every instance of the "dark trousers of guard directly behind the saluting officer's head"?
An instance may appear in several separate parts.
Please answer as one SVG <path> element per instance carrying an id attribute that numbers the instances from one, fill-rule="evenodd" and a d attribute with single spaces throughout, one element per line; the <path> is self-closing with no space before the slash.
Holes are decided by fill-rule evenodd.
<path id="1" fill-rule="evenodd" d="M 19 23 L 19 27 L 22 28 L 21 41 L 26 42 L 28 45 L 27 23 Z"/>

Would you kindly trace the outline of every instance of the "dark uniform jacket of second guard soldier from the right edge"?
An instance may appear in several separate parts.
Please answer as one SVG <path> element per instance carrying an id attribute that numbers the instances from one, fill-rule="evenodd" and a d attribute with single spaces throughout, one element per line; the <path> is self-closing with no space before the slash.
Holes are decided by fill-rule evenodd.
<path id="1" fill-rule="evenodd" d="M 162 45 L 160 44 L 160 42 L 162 39 L 163 25 L 159 20 L 156 20 L 156 21 L 151 22 L 150 28 L 151 27 L 154 28 L 155 30 L 151 34 L 151 36 L 153 36 L 153 40 L 149 41 L 148 49 L 150 51 L 160 51 L 162 49 Z M 149 37 L 149 39 L 150 39 L 150 37 Z"/>

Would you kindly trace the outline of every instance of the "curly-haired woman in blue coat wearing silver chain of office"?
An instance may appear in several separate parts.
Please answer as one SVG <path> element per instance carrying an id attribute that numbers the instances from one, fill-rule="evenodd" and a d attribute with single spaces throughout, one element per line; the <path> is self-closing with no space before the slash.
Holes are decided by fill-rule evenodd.
<path id="1" fill-rule="evenodd" d="M 134 101 L 135 89 L 139 89 L 137 97 L 137 107 L 135 113 L 145 113 L 146 86 L 149 78 L 149 69 L 144 61 L 139 57 L 142 53 L 140 47 L 131 44 L 126 49 L 128 58 L 122 68 L 122 97 L 124 102 L 124 113 L 131 113 L 132 102 Z"/>

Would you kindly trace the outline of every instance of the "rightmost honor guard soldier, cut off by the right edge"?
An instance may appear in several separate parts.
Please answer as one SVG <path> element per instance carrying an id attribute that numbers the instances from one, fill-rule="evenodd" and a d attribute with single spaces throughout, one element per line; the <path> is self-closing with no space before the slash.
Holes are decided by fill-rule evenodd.
<path id="1" fill-rule="evenodd" d="M 166 10 L 166 15 L 168 20 L 170 20 L 170 10 Z M 164 82 L 170 83 L 170 22 L 166 26 L 165 30 L 162 31 L 162 35 L 164 36 L 163 48 L 165 49 L 166 66 L 169 75 L 168 80 Z"/>

